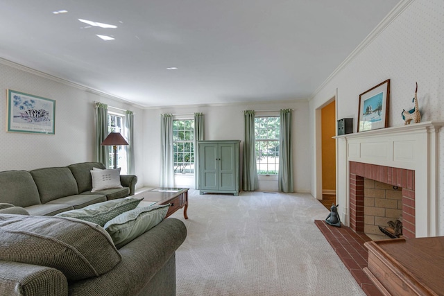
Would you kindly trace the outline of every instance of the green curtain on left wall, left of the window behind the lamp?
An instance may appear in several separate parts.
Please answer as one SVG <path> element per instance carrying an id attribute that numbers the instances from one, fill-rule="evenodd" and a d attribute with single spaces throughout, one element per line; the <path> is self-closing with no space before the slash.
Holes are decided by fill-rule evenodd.
<path id="1" fill-rule="evenodd" d="M 107 168 L 110 165 L 110 146 L 101 146 L 108 136 L 108 105 L 96 103 L 96 162 L 101 162 Z"/>

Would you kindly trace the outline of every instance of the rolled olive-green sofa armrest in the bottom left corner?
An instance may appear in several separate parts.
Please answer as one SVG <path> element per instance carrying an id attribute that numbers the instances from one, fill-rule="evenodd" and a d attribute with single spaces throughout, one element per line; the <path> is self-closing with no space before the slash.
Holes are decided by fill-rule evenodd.
<path id="1" fill-rule="evenodd" d="M 0 261 L 1 295 L 68 295 L 68 281 L 60 270 L 46 266 Z"/>

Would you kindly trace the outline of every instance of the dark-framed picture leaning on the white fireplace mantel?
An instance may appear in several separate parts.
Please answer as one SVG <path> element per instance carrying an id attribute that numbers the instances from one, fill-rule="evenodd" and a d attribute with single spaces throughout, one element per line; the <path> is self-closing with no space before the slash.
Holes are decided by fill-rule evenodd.
<path id="1" fill-rule="evenodd" d="M 358 132 L 388 127 L 390 79 L 359 95 Z"/>

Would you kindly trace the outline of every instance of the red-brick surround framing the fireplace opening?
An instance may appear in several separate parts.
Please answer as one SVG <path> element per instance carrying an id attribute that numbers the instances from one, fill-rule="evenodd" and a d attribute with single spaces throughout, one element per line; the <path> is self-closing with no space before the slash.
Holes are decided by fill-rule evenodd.
<path id="1" fill-rule="evenodd" d="M 364 232 L 364 177 L 402 187 L 402 234 L 415 237 L 415 171 L 404 168 L 349 162 L 350 228 Z"/>

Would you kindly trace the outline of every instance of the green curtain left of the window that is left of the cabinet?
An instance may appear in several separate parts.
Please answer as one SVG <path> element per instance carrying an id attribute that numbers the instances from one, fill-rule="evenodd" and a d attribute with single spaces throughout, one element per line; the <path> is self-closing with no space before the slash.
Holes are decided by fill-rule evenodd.
<path id="1" fill-rule="evenodd" d="M 174 187 L 173 114 L 162 114 L 160 134 L 162 144 L 160 186 L 165 188 Z"/>

